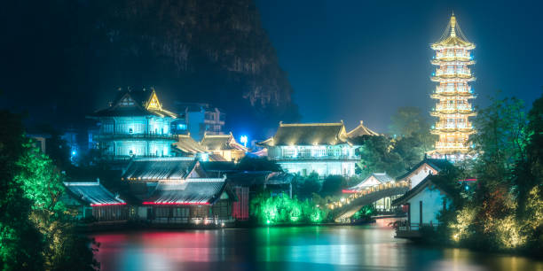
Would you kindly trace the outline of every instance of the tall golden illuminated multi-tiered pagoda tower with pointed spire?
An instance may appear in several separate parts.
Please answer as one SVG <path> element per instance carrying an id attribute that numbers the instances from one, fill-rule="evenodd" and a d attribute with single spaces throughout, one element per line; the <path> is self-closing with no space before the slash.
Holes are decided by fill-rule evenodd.
<path id="1" fill-rule="evenodd" d="M 437 117 L 436 125 L 431 130 L 432 134 L 439 136 L 436 151 L 431 153 L 435 158 L 448 155 L 452 159 L 461 159 L 470 149 L 468 136 L 475 130 L 468 117 L 476 112 L 469 103 L 469 99 L 475 98 L 469 86 L 475 77 L 468 66 L 475 64 L 470 54 L 475 47 L 462 34 L 454 13 L 444 35 L 431 45 L 436 50 L 431 63 L 437 66 L 436 73 L 431 77 L 437 86 L 430 96 L 437 100 L 436 108 L 430 112 Z"/>

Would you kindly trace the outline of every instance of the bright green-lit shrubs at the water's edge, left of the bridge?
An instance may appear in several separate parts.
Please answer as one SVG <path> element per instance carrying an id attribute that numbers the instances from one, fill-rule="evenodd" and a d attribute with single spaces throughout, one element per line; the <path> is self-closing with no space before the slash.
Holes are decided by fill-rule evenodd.
<path id="1" fill-rule="evenodd" d="M 286 194 L 271 197 L 260 194 L 250 203 L 251 215 L 264 225 L 319 223 L 327 218 L 327 209 L 313 205 L 308 199 L 298 200 Z"/>

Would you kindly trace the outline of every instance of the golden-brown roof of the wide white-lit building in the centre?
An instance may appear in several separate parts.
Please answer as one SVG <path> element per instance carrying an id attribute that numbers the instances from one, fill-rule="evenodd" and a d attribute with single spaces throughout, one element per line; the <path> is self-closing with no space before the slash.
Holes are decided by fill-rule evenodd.
<path id="1" fill-rule="evenodd" d="M 334 145 L 349 143 L 343 122 L 292 123 L 279 122 L 275 136 L 264 140 L 264 146 Z"/>

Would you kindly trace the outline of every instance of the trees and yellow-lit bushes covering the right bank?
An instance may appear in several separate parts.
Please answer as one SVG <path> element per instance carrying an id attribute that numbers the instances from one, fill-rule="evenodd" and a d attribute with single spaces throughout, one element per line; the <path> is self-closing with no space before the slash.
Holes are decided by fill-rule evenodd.
<path id="1" fill-rule="evenodd" d="M 452 192 L 426 241 L 485 251 L 543 255 L 543 97 L 526 114 L 515 98 L 492 99 L 478 111 L 476 159 L 434 176 Z M 476 177 L 473 187 L 459 179 Z"/>

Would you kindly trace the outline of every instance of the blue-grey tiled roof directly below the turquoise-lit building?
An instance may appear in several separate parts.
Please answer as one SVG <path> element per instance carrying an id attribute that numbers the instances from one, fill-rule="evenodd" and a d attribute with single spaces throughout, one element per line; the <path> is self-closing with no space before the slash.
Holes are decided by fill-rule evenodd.
<path id="1" fill-rule="evenodd" d="M 184 180 L 198 161 L 193 158 L 133 159 L 122 174 L 123 180 L 163 181 Z"/>

